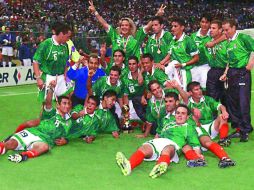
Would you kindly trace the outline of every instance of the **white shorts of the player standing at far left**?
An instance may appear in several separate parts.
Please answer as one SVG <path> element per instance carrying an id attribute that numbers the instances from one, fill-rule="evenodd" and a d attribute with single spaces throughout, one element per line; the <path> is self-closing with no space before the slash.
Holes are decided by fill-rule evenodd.
<path id="1" fill-rule="evenodd" d="M 53 80 L 56 80 L 57 82 L 55 91 L 54 91 L 55 96 L 61 96 L 68 91 L 68 87 L 67 87 L 64 75 L 58 75 L 58 76 L 47 75 L 46 82 L 45 82 L 46 89 L 48 89 L 50 82 Z M 47 93 L 47 90 L 45 91 L 45 98 L 46 98 L 46 93 Z"/>

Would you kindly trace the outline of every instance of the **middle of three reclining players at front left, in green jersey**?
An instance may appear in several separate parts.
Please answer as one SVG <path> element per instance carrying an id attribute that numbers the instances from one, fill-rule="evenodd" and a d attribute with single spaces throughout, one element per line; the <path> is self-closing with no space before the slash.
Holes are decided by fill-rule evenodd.
<path id="1" fill-rule="evenodd" d="M 73 125 L 69 130 L 67 139 L 83 137 L 87 143 L 92 143 L 98 133 L 99 119 L 95 110 L 99 106 L 99 100 L 95 96 L 89 96 L 85 105 L 77 105 L 71 112 Z"/>

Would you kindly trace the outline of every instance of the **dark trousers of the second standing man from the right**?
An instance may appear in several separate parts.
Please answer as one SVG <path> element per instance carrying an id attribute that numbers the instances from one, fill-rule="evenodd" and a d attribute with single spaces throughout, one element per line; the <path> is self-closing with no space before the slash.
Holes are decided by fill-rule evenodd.
<path id="1" fill-rule="evenodd" d="M 207 95 L 214 98 L 216 101 L 225 103 L 224 82 L 220 81 L 220 76 L 223 75 L 225 69 L 211 68 L 207 73 L 206 92 Z"/>

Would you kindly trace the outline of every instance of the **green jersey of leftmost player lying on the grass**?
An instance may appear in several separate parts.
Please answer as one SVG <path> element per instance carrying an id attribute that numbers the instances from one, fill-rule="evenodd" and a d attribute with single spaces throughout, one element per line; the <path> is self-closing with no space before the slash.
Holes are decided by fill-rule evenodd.
<path id="1" fill-rule="evenodd" d="M 26 130 L 40 137 L 50 146 L 53 146 L 57 138 L 67 137 L 71 125 L 72 122 L 69 114 L 63 118 L 61 115 L 56 113 L 56 115 L 51 119 L 41 121 L 39 126 L 28 128 Z"/>

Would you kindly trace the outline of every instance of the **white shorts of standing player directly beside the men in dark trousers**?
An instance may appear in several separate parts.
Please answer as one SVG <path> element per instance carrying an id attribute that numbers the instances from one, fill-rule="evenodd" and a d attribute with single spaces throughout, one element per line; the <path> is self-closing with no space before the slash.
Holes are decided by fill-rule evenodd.
<path id="1" fill-rule="evenodd" d="M 206 88 L 207 73 L 209 70 L 210 66 L 208 64 L 194 66 L 191 69 L 192 81 L 197 81 L 202 88 Z"/>

